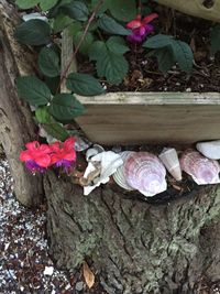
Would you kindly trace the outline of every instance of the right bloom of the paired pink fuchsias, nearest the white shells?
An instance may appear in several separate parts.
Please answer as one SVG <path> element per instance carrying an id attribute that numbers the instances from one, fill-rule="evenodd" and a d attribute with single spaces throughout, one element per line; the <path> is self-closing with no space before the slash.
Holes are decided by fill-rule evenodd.
<path id="1" fill-rule="evenodd" d="M 68 138 L 64 143 L 55 142 L 51 144 L 51 163 L 56 166 L 64 166 L 68 170 L 76 161 L 75 139 Z"/>

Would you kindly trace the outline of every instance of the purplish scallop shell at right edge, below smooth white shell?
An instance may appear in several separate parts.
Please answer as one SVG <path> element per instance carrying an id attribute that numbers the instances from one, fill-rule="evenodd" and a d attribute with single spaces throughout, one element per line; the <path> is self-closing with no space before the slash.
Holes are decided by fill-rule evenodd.
<path id="1" fill-rule="evenodd" d="M 202 156 L 198 151 L 186 150 L 180 159 L 180 167 L 198 185 L 220 183 L 220 165 L 215 160 Z"/>

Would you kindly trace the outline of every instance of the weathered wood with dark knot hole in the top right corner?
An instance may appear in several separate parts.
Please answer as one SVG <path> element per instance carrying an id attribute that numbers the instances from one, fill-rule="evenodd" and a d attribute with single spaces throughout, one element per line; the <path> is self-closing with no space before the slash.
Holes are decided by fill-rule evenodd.
<path id="1" fill-rule="evenodd" d="M 220 22 L 220 0 L 156 0 L 189 15 Z"/>

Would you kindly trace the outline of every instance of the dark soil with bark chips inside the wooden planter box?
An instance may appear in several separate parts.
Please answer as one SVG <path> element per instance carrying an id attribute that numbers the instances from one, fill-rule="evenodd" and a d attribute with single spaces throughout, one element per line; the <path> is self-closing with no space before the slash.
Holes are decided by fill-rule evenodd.
<path id="1" fill-rule="evenodd" d="M 160 72 L 155 57 L 150 57 L 140 44 L 129 44 L 131 51 L 127 54 L 130 70 L 119 86 L 101 80 L 108 91 L 220 91 L 220 54 L 210 53 L 210 21 L 185 15 L 152 4 L 152 10 L 158 12 L 155 21 L 155 33 L 173 35 L 188 43 L 194 52 L 193 73 L 186 74 L 178 66 L 168 73 Z M 150 55 L 150 54 L 148 54 Z M 91 63 L 81 56 L 79 72 L 96 73 Z"/>

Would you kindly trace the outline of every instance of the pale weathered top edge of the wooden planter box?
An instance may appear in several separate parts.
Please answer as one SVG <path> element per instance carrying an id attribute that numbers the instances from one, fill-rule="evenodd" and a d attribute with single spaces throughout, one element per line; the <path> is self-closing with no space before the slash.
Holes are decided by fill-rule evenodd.
<path id="1" fill-rule="evenodd" d="M 84 105 L 220 105 L 220 92 L 108 92 L 79 96 Z"/>

